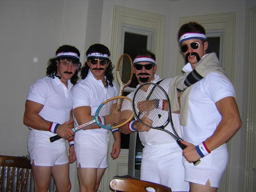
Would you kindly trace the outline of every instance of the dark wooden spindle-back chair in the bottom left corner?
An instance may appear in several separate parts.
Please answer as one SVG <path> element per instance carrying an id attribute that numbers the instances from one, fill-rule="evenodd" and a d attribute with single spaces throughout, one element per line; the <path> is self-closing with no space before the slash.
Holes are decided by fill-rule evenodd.
<path id="1" fill-rule="evenodd" d="M 0 191 L 11 192 L 13 186 L 16 186 L 16 191 L 25 191 L 27 178 L 31 172 L 29 159 L 0 155 L 0 171 Z"/>

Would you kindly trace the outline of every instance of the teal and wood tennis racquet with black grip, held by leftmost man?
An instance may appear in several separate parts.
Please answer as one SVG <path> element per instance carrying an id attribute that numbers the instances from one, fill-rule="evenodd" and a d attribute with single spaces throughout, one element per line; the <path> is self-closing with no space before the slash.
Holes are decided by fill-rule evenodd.
<path id="1" fill-rule="evenodd" d="M 131 99 L 125 96 L 116 96 L 99 105 L 95 112 L 95 117 L 91 121 L 74 127 L 72 130 L 75 133 L 91 125 L 98 125 L 104 129 L 114 129 L 127 123 L 133 116 Z M 50 142 L 60 138 L 59 135 L 52 136 L 50 137 Z"/>

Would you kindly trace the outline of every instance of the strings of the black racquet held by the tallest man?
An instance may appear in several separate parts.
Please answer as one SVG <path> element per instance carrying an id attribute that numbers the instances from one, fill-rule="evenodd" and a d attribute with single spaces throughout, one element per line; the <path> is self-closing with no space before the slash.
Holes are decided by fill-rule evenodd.
<path id="1" fill-rule="evenodd" d="M 143 121 L 143 117 L 151 119 L 152 127 L 164 128 L 169 123 L 169 104 L 165 93 L 153 84 L 143 84 L 134 95 L 134 113 Z"/>

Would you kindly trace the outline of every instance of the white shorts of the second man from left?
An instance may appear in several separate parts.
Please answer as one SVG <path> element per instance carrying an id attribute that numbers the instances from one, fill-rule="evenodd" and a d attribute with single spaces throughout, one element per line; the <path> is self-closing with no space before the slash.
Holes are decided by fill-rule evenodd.
<path id="1" fill-rule="evenodd" d="M 75 133 L 75 155 L 77 166 L 82 168 L 106 168 L 108 167 L 108 133 L 87 133 L 85 130 Z"/>

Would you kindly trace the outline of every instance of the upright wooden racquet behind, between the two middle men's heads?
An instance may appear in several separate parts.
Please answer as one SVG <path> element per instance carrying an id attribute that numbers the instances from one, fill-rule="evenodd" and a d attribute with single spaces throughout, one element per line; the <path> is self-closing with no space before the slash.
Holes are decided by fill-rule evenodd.
<path id="1" fill-rule="evenodd" d="M 130 55 L 122 54 L 117 63 L 117 80 L 120 85 L 119 96 L 123 94 L 123 89 L 130 85 L 133 79 L 133 60 Z"/>

